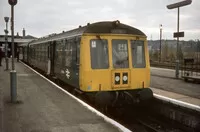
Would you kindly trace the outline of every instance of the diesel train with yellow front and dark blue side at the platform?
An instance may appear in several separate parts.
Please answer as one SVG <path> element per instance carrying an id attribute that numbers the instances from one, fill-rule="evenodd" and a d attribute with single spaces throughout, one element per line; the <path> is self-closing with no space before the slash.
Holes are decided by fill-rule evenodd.
<path id="1" fill-rule="evenodd" d="M 51 34 L 22 45 L 23 61 L 101 105 L 153 97 L 146 35 L 119 21 Z"/>

